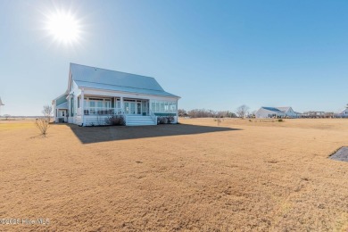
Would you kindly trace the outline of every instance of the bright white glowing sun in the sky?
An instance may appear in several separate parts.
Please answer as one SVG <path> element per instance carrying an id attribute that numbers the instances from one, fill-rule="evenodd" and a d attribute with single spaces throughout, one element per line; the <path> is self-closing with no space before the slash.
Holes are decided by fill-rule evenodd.
<path id="1" fill-rule="evenodd" d="M 46 29 L 60 43 L 73 44 L 79 40 L 79 21 L 69 12 L 54 12 L 48 15 Z"/>

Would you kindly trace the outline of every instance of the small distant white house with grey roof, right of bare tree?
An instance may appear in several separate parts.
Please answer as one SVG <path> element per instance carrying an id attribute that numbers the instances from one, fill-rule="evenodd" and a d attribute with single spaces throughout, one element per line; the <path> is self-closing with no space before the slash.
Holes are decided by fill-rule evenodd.
<path id="1" fill-rule="evenodd" d="M 264 107 L 262 106 L 256 113 L 256 118 L 297 118 L 298 113 L 291 107 Z"/>

